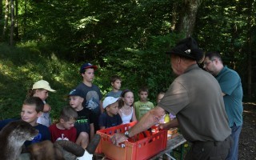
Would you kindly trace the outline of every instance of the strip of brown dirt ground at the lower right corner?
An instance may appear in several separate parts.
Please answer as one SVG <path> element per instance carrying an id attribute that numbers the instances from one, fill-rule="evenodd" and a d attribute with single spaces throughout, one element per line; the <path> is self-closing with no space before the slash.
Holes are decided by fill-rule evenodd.
<path id="1" fill-rule="evenodd" d="M 256 160 L 256 103 L 244 103 L 239 160 Z"/>

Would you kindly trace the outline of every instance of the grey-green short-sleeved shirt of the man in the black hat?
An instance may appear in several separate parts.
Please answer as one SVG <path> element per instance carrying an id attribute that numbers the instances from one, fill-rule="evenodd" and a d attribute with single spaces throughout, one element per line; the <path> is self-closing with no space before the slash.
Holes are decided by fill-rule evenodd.
<path id="1" fill-rule="evenodd" d="M 231 134 L 218 81 L 197 64 L 174 79 L 158 106 L 176 114 L 187 141 L 223 141 Z"/>

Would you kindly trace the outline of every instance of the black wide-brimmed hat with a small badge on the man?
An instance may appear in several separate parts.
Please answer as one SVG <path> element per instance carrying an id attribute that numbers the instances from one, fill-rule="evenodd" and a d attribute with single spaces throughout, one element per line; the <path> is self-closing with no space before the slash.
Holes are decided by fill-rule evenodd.
<path id="1" fill-rule="evenodd" d="M 198 48 L 198 43 L 194 38 L 184 38 L 170 51 L 166 54 L 176 54 L 184 58 L 190 58 L 194 60 L 199 60 L 202 58 L 202 50 Z"/>

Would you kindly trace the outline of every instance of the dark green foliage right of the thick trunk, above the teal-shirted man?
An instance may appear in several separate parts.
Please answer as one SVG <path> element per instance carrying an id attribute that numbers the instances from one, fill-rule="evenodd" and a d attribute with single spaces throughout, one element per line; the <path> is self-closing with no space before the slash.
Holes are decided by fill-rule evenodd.
<path id="1" fill-rule="evenodd" d="M 242 78 L 246 95 L 248 79 L 248 54 L 252 53 L 253 75 L 256 70 L 256 33 L 254 1 L 204 1 L 198 10 L 195 36 L 200 46 L 207 52 L 217 50 L 222 53 L 226 66 L 238 71 Z M 250 47 L 250 39 L 251 45 Z M 252 82 L 255 83 L 253 76 Z M 252 88 L 254 88 L 252 86 Z M 254 92 L 255 94 L 255 92 Z"/>

